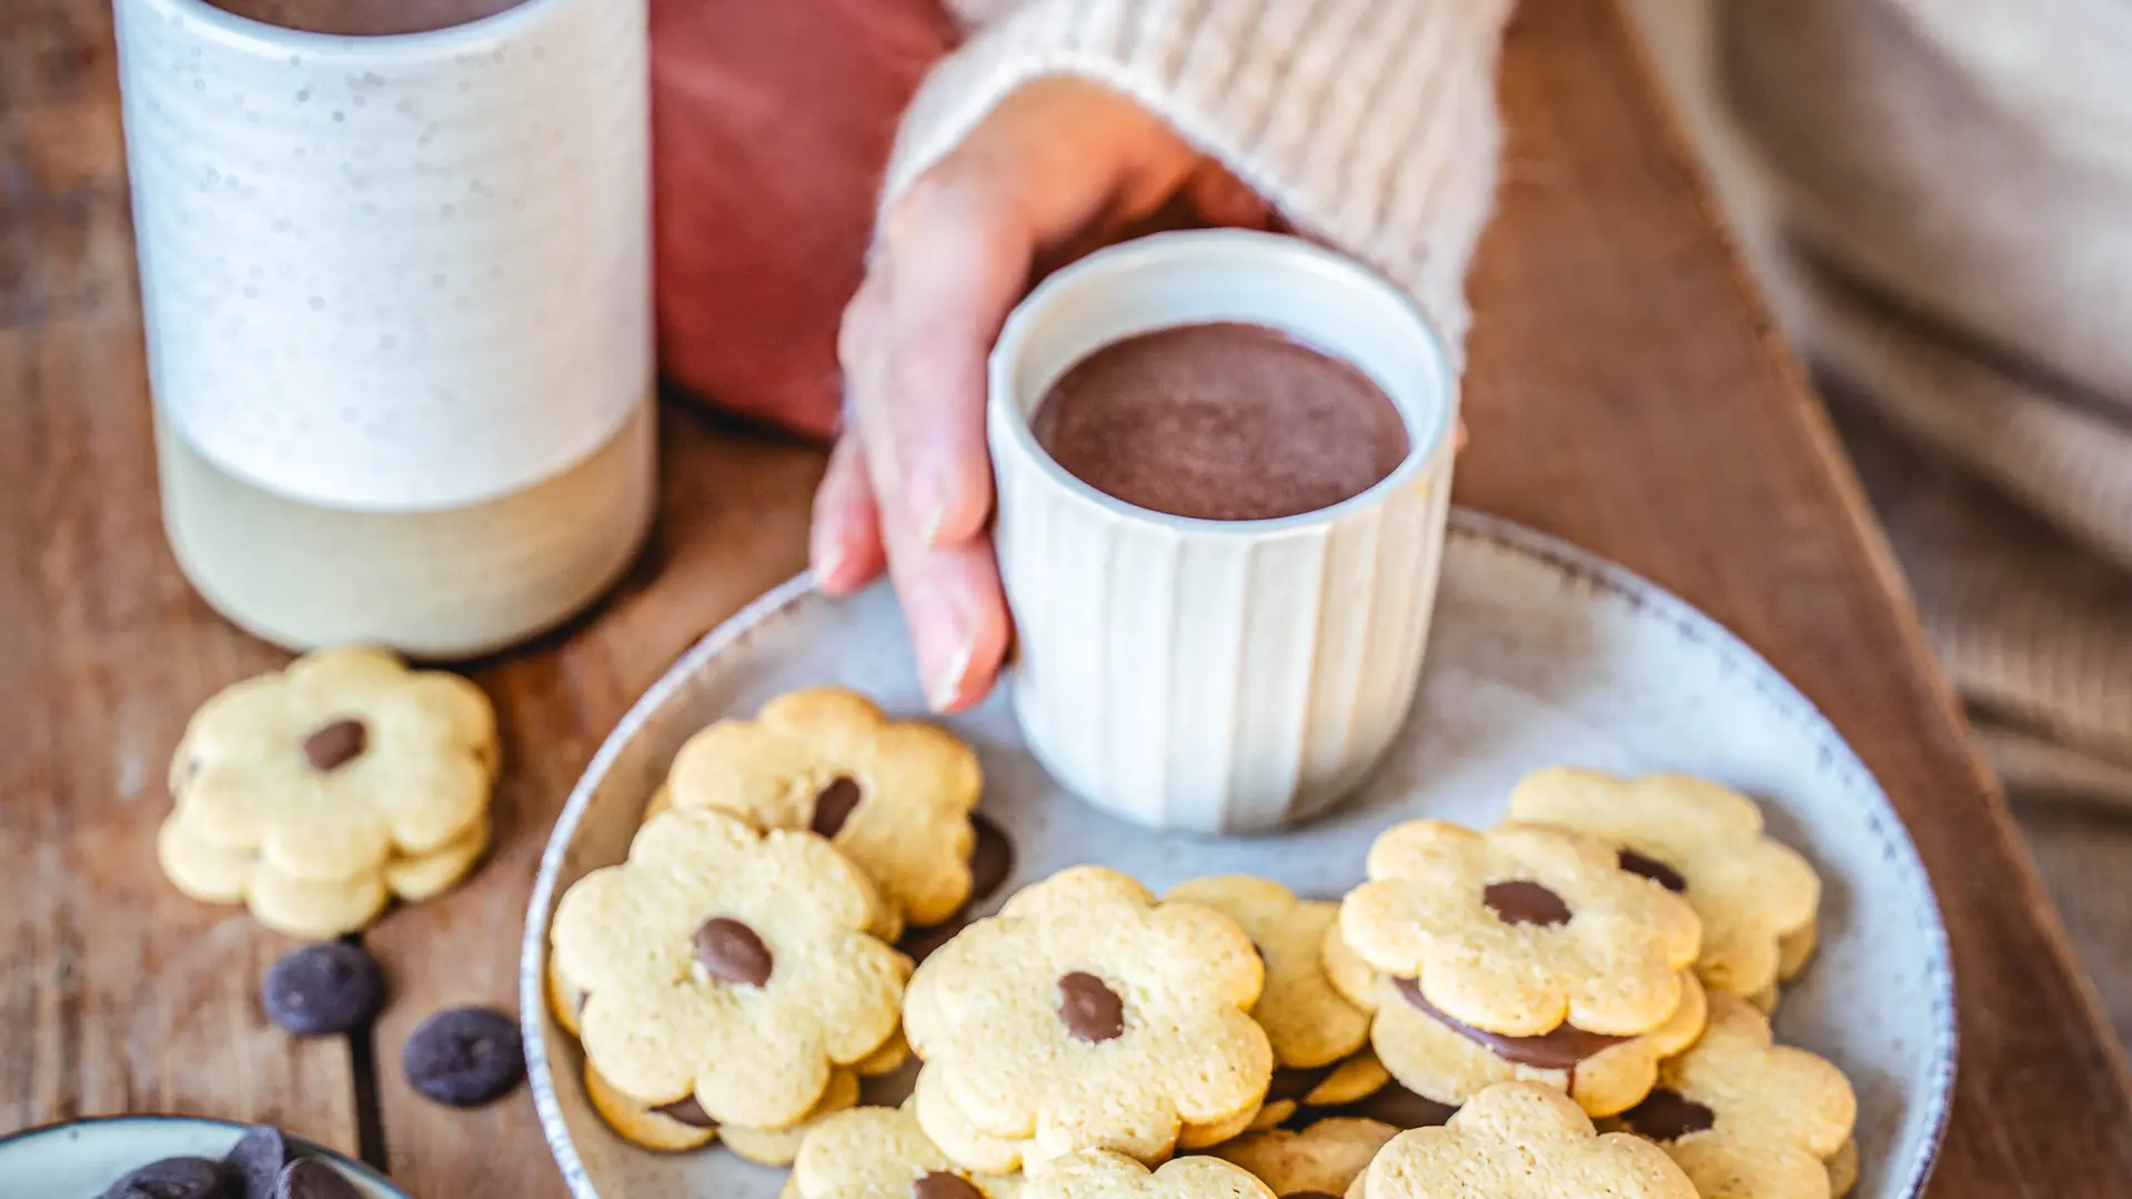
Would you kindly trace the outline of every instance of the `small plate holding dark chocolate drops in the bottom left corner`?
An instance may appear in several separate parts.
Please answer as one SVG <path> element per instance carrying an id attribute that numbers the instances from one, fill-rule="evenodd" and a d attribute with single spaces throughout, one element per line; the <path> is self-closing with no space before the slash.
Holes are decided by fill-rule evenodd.
<path id="1" fill-rule="evenodd" d="M 96 1199 L 126 1171 L 166 1156 L 222 1158 L 245 1124 L 200 1116 L 98 1116 L 0 1137 L 0 1199 Z M 375 1169 L 288 1137 L 290 1150 L 339 1167 L 362 1199 L 407 1199 Z"/>

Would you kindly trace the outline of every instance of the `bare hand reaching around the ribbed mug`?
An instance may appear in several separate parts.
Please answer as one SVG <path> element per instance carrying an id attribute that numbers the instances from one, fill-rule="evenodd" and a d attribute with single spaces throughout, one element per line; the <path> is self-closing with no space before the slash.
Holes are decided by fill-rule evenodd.
<path id="1" fill-rule="evenodd" d="M 991 555 L 985 361 L 1043 271 L 1130 235 L 1262 228 L 1269 209 L 1132 100 L 1030 83 L 893 205 L 844 309 L 846 429 L 814 497 L 814 574 L 849 593 L 887 567 L 925 696 L 974 704 L 1011 640 Z"/>

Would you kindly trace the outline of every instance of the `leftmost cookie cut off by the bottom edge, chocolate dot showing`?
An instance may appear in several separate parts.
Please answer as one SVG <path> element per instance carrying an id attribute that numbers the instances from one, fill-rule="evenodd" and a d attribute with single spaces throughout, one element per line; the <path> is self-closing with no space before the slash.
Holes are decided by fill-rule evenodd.
<path id="1" fill-rule="evenodd" d="M 1019 1176 L 957 1167 L 908 1107 L 857 1107 L 808 1133 L 785 1190 L 789 1199 L 1013 1199 L 1019 1188 Z"/>

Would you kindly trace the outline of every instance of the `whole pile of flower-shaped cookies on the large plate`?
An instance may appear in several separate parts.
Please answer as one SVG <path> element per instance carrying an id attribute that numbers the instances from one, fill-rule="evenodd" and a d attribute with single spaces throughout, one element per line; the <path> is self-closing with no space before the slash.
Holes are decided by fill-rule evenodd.
<path id="1" fill-rule="evenodd" d="M 1763 1013 L 1819 881 L 1731 792 L 1550 770 L 1495 830 L 1386 830 L 1339 902 L 1072 866 L 970 922 L 1006 873 L 972 864 L 979 789 L 966 747 L 849 691 L 697 734 L 629 860 L 556 909 L 554 1013 L 599 1114 L 789 1163 L 789 1199 L 1834 1199 L 1855 1176 L 1848 1084 Z M 891 1071 L 908 1099 L 859 1107 Z"/>

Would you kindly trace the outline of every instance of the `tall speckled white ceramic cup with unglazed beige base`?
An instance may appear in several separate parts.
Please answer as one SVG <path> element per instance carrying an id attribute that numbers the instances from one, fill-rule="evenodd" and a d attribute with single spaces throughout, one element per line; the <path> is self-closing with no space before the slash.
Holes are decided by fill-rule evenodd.
<path id="1" fill-rule="evenodd" d="M 294 649 L 488 653 L 655 510 L 644 0 L 328 36 L 117 0 L 164 527 Z"/>

